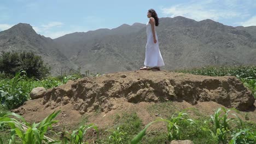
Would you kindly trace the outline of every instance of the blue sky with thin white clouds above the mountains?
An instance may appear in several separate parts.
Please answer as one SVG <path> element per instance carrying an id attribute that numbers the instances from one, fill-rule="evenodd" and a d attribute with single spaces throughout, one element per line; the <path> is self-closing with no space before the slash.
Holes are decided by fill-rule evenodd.
<path id="1" fill-rule="evenodd" d="M 38 34 L 57 38 L 73 32 L 146 23 L 153 8 L 159 17 L 212 19 L 229 26 L 256 26 L 256 0 L 0 0 L 0 31 L 20 22 Z"/>

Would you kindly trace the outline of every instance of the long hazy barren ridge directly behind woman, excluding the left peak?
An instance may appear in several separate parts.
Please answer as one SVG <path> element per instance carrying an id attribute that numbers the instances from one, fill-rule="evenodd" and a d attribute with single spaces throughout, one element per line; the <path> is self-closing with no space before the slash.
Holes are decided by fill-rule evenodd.
<path id="1" fill-rule="evenodd" d="M 181 16 L 161 18 L 156 31 L 166 64 L 164 68 L 255 64 L 253 27 L 246 29 L 249 30 L 212 20 L 197 22 Z M 66 45 L 60 51 L 66 51 L 65 55 L 82 67 L 82 71 L 109 73 L 136 70 L 142 66 L 146 37 L 146 26 L 137 23 L 116 29 L 67 34 L 54 41 Z"/>

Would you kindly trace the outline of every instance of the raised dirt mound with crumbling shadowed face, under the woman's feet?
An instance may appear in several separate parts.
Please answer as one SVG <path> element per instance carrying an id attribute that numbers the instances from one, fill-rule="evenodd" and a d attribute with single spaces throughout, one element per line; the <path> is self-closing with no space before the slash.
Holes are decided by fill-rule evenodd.
<path id="1" fill-rule="evenodd" d="M 134 104 L 184 100 L 195 105 L 198 101 L 214 101 L 241 111 L 254 104 L 252 93 L 236 77 L 142 70 L 69 81 L 66 85 L 48 89 L 42 105 L 44 109 L 69 105 L 83 114 L 115 109 L 113 98 L 124 98 Z M 26 104 L 19 111 L 25 107 Z"/>

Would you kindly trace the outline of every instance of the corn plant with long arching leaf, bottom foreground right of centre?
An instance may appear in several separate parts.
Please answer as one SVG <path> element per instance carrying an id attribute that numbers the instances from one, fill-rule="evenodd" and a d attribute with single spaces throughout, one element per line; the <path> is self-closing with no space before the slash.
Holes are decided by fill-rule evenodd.
<path id="1" fill-rule="evenodd" d="M 142 140 L 142 137 L 145 135 L 146 130 L 148 129 L 148 127 L 155 123 L 155 122 L 166 122 L 167 123 L 167 131 L 168 131 L 168 141 L 174 140 L 174 139 L 181 139 L 181 127 L 179 126 L 179 124 L 183 123 L 183 122 L 188 122 L 190 124 L 194 124 L 193 119 L 186 119 L 184 118 L 184 116 L 187 116 L 187 113 L 184 112 L 179 112 L 177 116 L 172 115 L 172 117 L 170 119 L 163 119 L 160 118 L 156 121 L 150 122 L 149 124 L 146 125 L 146 127 L 139 132 L 138 135 L 136 135 L 132 140 L 131 143 L 132 144 L 136 144 L 139 141 Z"/>

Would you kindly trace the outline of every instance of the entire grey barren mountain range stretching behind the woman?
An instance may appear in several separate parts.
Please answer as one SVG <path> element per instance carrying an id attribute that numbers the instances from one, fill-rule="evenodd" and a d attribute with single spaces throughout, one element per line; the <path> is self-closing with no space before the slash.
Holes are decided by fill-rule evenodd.
<path id="1" fill-rule="evenodd" d="M 163 69 L 256 64 L 256 26 L 232 27 L 182 16 L 159 21 L 156 32 L 165 61 Z M 56 39 L 37 34 L 26 23 L 0 32 L 0 51 L 32 51 L 43 57 L 54 75 L 71 69 L 81 73 L 137 70 L 143 66 L 146 43 L 146 25 L 142 23 L 75 32 Z"/>

